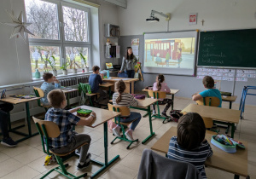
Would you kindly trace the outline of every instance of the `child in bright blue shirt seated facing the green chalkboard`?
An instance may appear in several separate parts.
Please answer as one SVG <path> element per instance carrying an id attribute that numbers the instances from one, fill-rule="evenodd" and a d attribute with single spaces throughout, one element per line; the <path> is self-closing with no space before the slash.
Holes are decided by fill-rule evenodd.
<path id="1" fill-rule="evenodd" d="M 218 89 L 214 89 L 214 79 L 210 76 L 205 76 L 202 80 L 202 83 L 204 84 L 204 87 L 207 90 L 204 90 L 199 94 L 193 95 L 192 100 L 198 101 L 203 97 L 218 97 L 219 99 L 218 107 L 221 107 L 221 104 L 222 104 L 221 94 Z"/>

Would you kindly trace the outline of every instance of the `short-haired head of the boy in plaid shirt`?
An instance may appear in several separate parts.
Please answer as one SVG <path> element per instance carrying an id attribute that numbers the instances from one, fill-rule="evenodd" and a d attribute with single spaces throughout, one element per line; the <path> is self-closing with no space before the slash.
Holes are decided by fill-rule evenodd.
<path id="1" fill-rule="evenodd" d="M 66 97 L 62 90 L 51 90 L 47 95 L 49 105 L 55 108 L 64 108 L 67 106 Z"/>

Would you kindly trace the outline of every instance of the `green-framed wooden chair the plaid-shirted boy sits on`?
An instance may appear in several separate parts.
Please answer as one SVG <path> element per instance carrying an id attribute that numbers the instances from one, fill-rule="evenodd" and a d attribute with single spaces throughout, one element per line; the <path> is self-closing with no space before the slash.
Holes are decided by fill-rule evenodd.
<path id="1" fill-rule="evenodd" d="M 73 174 L 67 172 L 66 168 L 67 168 L 68 164 L 64 165 L 61 157 L 66 157 L 66 156 L 74 153 L 74 151 L 76 149 L 78 149 L 79 147 L 82 147 L 84 145 L 87 145 L 88 143 L 85 142 L 84 144 L 75 148 L 73 151 L 71 151 L 69 153 L 61 153 L 61 154 L 53 153 L 49 149 L 49 137 L 55 138 L 55 137 L 60 136 L 60 129 L 59 129 L 58 125 L 52 121 L 40 120 L 40 119 L 34 118 L 34 117 L 32 117 L 32 118 L 33 118 L 33 120 L 38 128 L 38 132 L 41 136 L 42 147 L 43 147 L 44 153 L 46 153 L 47 155 L 52 155 L 52 154 L 55 155 L 55 159 L 57 160 L 57 163 L 59 165 L 58 167 L 55 167 L 54 169 L 49 170 L 49 172 L 47 172 L 40 179 L 43 179 L 44 177 L 48 176 L 54 170 L 59 172 L 61 175 L 66 176 L 67 178 L 70 178 L 70 179 L 77 179 L 77 178 L 82 178 L 82 177 L 87 176 L 87 173 L 84 173 L 83 175 L 80 175 L 80 176 L 74 176 Z"/>

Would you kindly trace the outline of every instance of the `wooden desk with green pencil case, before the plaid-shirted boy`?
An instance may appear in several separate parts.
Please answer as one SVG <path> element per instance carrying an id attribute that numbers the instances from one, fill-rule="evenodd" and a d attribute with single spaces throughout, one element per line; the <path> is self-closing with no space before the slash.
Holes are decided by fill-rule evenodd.
<path id="1" fill-rule="evenodd" d="M 95 178 L 98 176 L 103 170 L 107 169 L 109 165 L 112 165 L 113 162 L 119 159 L 119 155 L 115 156 L 108 162 L 108 120 L 119 116 L 120 113 L 111 112 L 106 109 L 96 108 L 96 107 L 89 107 L 89 106 L 81 106 L 84 109 L 90 109 L 96 113 L 96 119 L 92 121 L 89 127 L 96 128 L 97 126 L 103 124 L 104 129 L 104 152 L 105 152 L 105 161 L 104 163 L 96 161 L 95 159 L 90 159 L 92 162 L 96 163 L 97 165 L 102 165 L 100 170 L 97 170 L 90 178 Z M 74 113 L 76 115 L 76 112 Z M 79 117 L 83 118 L 83 117 Z"/>

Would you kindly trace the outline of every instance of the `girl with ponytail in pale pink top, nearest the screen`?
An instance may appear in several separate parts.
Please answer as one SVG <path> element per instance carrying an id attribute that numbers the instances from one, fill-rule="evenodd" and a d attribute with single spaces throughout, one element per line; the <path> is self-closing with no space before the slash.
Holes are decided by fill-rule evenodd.
<path id="1" fill-rule="evenodd" d="M 166 93 L 170 93 L 171 90 L 170 88 L 167 86 L 166 83 L 164 83 L 165 81 L 165 76 L 162 74 L 159 74 L 156 77 L 155 83 L 153 85 L 153 90 L 155 91 L 164 91 Z M 166 107 L 164 109 L 164 111 L 161 113 L 162 116 L 168 118 L 168 116 L 166 115 L 167 110 L 173 105 L 173 101 L 172 99 L 166 98 L 166 99 L 159 99 L 158 104 L 160 105 L 164 105 L 166 104 Z M 155 107 L 154 105 L 152 105 L 153 108 L 153 116 L 156 114 L 155 112 Z"/>

